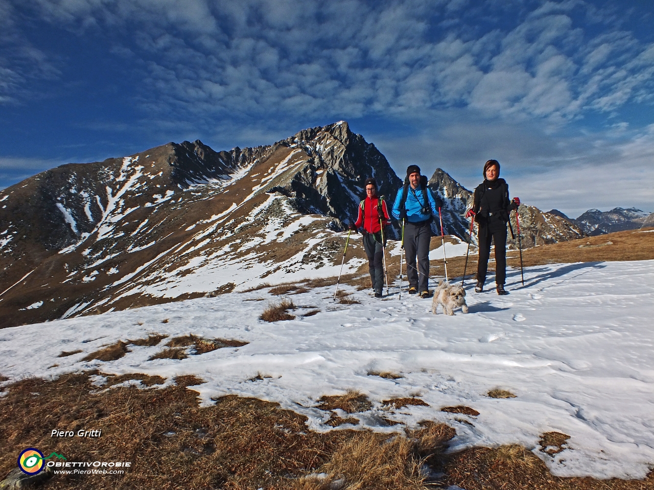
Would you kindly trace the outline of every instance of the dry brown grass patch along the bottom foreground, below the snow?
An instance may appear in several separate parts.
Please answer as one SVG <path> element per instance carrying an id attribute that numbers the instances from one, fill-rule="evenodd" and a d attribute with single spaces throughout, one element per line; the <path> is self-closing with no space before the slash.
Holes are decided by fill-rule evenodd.
<path id="1" fill-rule="evenodd" d="M 129 472 L 112 478 L 57 475 L 46 483 L 62 490 L 328 490 L 338 482 L 359 490 L 449 485 L 466 490 L 654 489 L 654 473 L 642 481 L 558 478 L 520 446 L 445 455 L 455 431 L 430 421 L 407 437 L 349 430 L 313 433 L 305 417 L 261 400 L 230 396 L 199 407 L 197 393 L 185 389 L 202 383 L 195 376 L 179 376 L 175 385 L 162 389 L 115 386 L 121 379 L 141 379 L 146 385 L 159 381 L 131 374 L 110 377 L 111 389 L 97 389 L 90 374 L 99 373 L 9 385 L 0 397 L 0 476 L 16 467 L 16 457 L 27 445 L 79 461 L 101 455 L 132 463 Z M 50 437 L 52 429 L 78 428 L 100 429 L 102 436 Z M 562 444 L 565 438 L 547 433 L 542 441 Z M 426 485 L 422 463 L 445 475 Z M 327 477 L 309 476 L 319 472 Z"/>

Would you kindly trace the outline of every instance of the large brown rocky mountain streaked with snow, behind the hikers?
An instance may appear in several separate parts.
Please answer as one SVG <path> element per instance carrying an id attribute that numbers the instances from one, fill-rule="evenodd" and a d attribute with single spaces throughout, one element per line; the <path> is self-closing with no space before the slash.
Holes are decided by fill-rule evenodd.
<path id="1" fill-rule="evenodd" d="M 334 276 L 368 176 L 388 201 L 402 186 L 375 145 L 337 122 L 270 146 L 171 142 L 27 178 L 0 191 L 0 325 Z M 441 169 L 429 186 L 445 233 L 467 240 L 472 193 Z M 560 213 L 519 213 L 523 246 L 586 234 Z M 346 271 L 364 263 L 352 247 Z"/>

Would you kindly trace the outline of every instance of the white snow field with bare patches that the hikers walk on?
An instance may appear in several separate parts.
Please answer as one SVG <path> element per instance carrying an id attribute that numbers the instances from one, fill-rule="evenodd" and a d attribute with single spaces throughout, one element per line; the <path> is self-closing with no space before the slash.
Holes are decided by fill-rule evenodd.
<path id="1" fill-rule="evenodd" d="M 527 268 L 524 287 L 512 270 L 509 296 L 468 291 L 470 313 L 456 316 L 433 316 L 430 300 L 403 295 L 400 301 L 396 293 L 379 300 L 344 289 L 360 304 L 337 304 L 332 287 L 319 287 L 293 295 L 298 318 L 276 323 L 258 319 L 279 299 L 262 289 L 3 329 L 0 374 L 9 377 L 5 384 L 91 369 L 156 374 L 167 383 L 196 374 L 205 380 L 193 387 L 204 403 L 230 393 L 272 400 L 306 415 L 317 430 L 330 429 L 325 422 L 333 415 L 317 400 L 358 389 L 372 402 L 370 410 L 348 416 L 358 419 L 358 428 L 399 430 L 385 419 L 445 421 L 456 428 L 451 450 L 523 444 L 560 476 L 643 478 L 654 463 L 654 261 Z M 320 312 L 301 316 L 315 309 Z M 150 333 L 249 344 L 148 361 L 164 340 L 131 345 L 116 361 L 81 360 L 101 346 Z M 381 372 L 401 377 L 385 379 Z M 496 387 L 516 397 L 487 396 Z M 419 397 L 428 406 L 383 404 L 396 397 Z M 479 415 L 440 410 L 458 405 Z M 570 436 L 554 455 L 538 446 L 549 431 Z"/>

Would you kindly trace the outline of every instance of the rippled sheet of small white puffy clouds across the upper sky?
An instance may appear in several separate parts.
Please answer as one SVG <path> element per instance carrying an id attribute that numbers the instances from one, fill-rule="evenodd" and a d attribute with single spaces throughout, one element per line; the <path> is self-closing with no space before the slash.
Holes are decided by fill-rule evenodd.
<path id="1" fill-rule="evenodd" d="M 114 52 L 140 63 L 148 108 L 174 106 L 209 120 L 234 113 L 410 116 L 470 106 L 561 123 L 585 110 L 649 100 L 653 85 L 654 46 L 581 1 L 27 5 L 78 35 L 114 29 Z"/>

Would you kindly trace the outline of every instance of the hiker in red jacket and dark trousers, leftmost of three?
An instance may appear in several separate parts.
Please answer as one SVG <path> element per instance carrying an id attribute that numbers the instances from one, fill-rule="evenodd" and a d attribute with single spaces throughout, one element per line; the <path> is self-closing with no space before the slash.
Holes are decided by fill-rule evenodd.
<path id="1" fill-rule="evenodd" d="M 382 232 L 388 222 L 388 210 L 383 197 L 377 196 L 377 181 L 366 179 L 366 199 L 359 204 L 359 214 L 356 222 L 350 225 L 355 233 L 363 227 L 364 250 L 368 255 L 368 270 L 375 298 L 381 298 L 384 286 L 383 255 L 386 246 L 386 235 Z"/>

